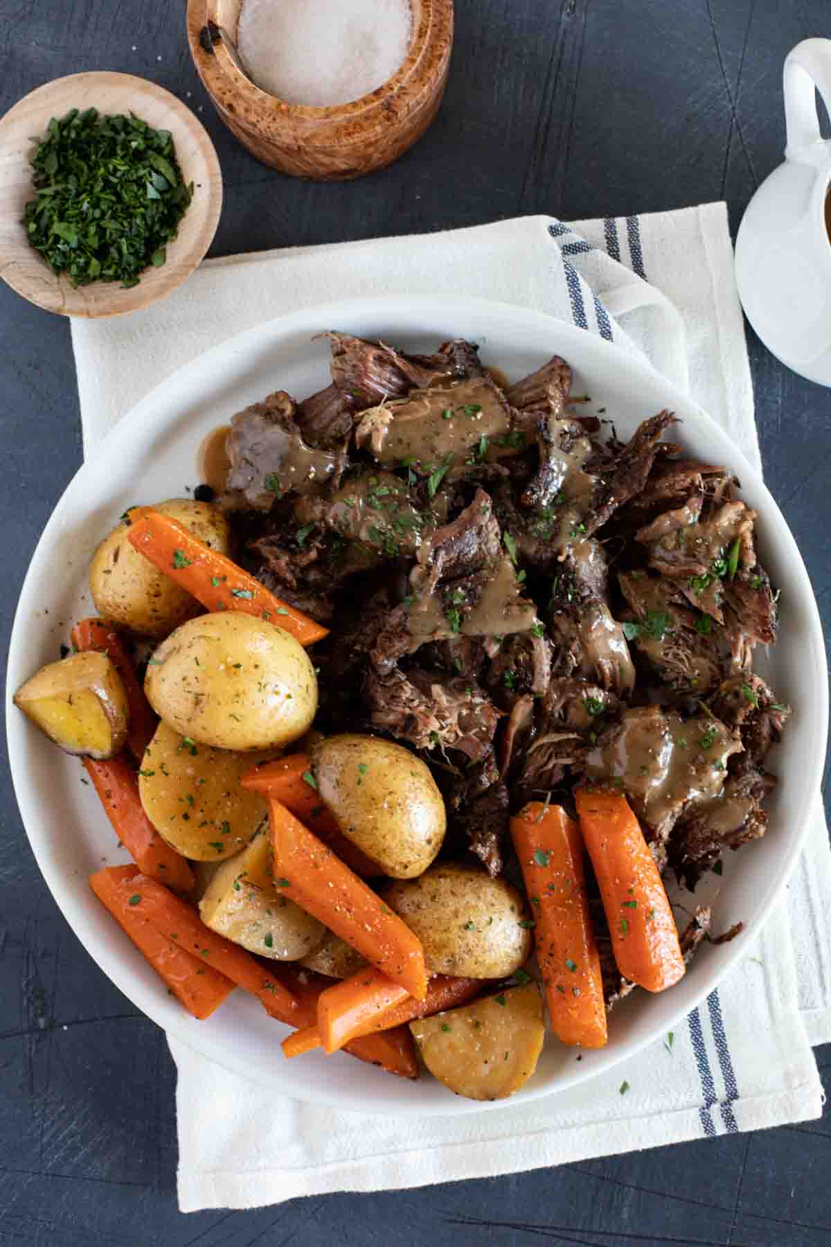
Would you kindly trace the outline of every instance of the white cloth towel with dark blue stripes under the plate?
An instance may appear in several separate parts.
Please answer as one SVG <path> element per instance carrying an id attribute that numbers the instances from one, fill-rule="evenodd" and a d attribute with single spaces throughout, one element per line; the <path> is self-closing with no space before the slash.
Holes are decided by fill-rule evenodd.
<path id="1" fill-rule="evenodd" d="M 531 217 L 208 261 L 146 312 L 72 322 L 85 451 L 151 387 L 249 325 L 348 296 L 460 292 L 537 308 L 642 353 L 759 464 L 724 205 L 571 226 Z M 779 920 L 674 1042 L 529 1105 L 407 1119 L 402 1129 L 397 1119 L 264 1096 L 171 1040 L 179 1206 L 421 1186 L 816 1117 L 810 1044 L 831 1039 L 830 908 L 817 801 Z"/>

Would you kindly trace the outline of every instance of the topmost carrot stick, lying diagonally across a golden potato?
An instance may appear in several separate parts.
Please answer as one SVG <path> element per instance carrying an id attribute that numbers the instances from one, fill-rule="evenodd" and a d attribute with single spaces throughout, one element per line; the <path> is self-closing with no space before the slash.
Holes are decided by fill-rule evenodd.
<path id="1" fill-rule="evenodd" d="M 150 506 L 130 513 L 130 544 L 209 611 L 244 611 L 270 620 L 300 645 L 313 645 L 329 630 L 269 592 L 224 554 L 194 537 L 183 524 Z"/>

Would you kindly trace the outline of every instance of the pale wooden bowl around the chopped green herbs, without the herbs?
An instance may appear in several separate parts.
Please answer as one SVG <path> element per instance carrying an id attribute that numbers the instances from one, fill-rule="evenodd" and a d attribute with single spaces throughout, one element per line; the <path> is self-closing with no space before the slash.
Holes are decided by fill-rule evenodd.
<path id="1" fill-rule="evenodd" d="M 70 108 L 105 113 L 135 112 L 154 130 L 169 130 L 193 198 L 167 246 L 161 268 L 147 268 L 138 286 L 92 282 L 74 289 L 69 277 L 54 273 L 30 247 L 22 226 L 24 206 L 34 196 L 29 155 L 46 132 L 50 117 Z M 0 118 L 0 277 L 24 298 L 61 315 L 118 315 L 164 298 L 203 258 L 222 209 L 219 161 L 204 127 L 189 108 L 154 82 L 131 74 L 71 74 L 37 87 Z"/>

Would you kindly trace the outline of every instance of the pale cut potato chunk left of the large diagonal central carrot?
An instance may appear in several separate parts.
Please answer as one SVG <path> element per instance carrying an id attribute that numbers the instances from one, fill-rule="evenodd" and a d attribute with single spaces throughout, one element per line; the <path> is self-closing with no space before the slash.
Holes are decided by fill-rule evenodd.
<path id="1" fill-rule="evenodd" d="M 326 928 L 279 894 L 272 875 L 268 835 L 257 835 L 223 862 L 199 902 L 206 927 L 275 961 L 299 961 L 314 951 Z"/>

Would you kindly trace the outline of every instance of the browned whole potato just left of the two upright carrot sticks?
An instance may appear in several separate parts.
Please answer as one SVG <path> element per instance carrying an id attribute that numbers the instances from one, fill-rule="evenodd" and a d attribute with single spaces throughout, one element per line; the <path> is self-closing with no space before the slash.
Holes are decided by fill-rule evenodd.
<path id="1" fill-rule="evenodd" d="M 531 954 L 520 893 L 477 867 L 442 862 L 420 879 L 394 883 L 384 902 L 421 940 L 430 974 L 502 979 Z"/>

